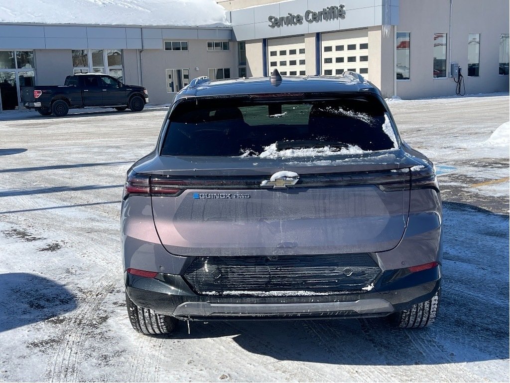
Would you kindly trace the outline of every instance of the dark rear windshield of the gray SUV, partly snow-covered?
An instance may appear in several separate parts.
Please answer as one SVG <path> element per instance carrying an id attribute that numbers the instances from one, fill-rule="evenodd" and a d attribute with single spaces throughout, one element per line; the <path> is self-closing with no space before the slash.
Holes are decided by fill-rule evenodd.
<path id="1" fill-rule="evenodd" d="M 387 111 L 374 97 L 301 98 L 181 102 L 169 117 L 161 154 L 277 158 L 398 147 Z"/>

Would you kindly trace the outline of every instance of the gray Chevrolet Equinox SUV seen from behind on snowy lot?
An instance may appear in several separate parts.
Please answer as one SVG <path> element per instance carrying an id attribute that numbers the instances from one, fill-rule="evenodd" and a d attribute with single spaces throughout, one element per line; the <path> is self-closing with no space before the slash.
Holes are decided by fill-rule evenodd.
<path id="1" fill-rule="evenodd" d="M 133 327 L 386 317 L 431 324 L 441 293 L 435 169 L 362 76 L 193 80 L 121 211 Z"/>

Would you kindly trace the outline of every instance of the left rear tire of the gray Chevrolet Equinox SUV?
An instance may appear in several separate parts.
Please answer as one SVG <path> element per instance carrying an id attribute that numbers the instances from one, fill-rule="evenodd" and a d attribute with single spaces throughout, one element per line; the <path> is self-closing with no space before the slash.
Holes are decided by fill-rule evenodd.
<path id="1" fill-rule="evenodd" d="M 126 291 L 127 315 L 135 330 L 146 335 L 167 335 L 172 333 L 177 326 L 176 318 L 156 314 L 150 308 L 137 306 L 131 300 Z"/>

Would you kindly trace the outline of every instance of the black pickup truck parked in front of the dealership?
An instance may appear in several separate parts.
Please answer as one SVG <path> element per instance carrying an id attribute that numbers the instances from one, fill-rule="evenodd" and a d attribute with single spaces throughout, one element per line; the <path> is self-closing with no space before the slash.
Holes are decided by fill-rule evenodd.
<path id="1" fill-rule="evenodd" d="M 122 84 L 103 74 L 67 76 L 61 85 L 21 87 L 21 101 L 25 108 L 34 108 L 43 116 L 62 117 L 69 108 L 115 108 L 139 112 L 149 102 L 147 89 Z"/>

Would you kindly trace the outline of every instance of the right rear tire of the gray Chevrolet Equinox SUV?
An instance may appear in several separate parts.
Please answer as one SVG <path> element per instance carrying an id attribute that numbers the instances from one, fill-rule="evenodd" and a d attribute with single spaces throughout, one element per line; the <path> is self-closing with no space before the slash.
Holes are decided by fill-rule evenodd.
<path id="1" fill-rule="evenodd" d="M 437 292 L 428 301 L 414 304 L 409 310 L 392 314 L 388 319 L 393 326 L 400 328 L 422 328 L 429 326 L 436 320 L 438 315 L 440 296 L 440 292 Z"/>

